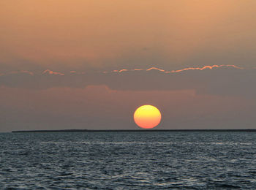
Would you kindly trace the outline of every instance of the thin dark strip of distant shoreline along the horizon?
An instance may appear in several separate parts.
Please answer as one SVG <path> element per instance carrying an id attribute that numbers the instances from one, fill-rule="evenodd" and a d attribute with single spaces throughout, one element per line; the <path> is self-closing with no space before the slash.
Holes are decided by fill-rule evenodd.
<path id="1" fill-rule="evenodd" d="M 12 131 L 12 133 L 26 132 L 256 132 L 256 129 L 61 129 L 61 130 L 28 130 L 28 131 Z"/>

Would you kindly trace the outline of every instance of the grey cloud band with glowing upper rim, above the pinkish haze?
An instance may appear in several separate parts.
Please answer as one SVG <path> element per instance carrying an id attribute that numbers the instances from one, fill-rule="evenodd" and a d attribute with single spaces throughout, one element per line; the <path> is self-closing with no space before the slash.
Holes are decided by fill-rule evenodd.
<path id="1" fill-rule="evenodd" d="M 113 72 L 10 72 L 0 76 L 0 86 L 47 89 L 108 86 L 124 91 L 176 91 L 193 89 L 199 94 L 221 94 L 255 98 L 256 70 L 235 65 L 212 65 L 165 71 L 120 69 Z"/>

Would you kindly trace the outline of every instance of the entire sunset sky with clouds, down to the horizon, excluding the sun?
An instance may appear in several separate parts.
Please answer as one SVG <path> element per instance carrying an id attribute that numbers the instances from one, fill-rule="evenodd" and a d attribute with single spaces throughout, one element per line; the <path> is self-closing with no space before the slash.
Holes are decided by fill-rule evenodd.
<path id="1" fill-rule="evenodd" d="M 256 129 L 255 0 L 0 1 L 0 132 Z"/>

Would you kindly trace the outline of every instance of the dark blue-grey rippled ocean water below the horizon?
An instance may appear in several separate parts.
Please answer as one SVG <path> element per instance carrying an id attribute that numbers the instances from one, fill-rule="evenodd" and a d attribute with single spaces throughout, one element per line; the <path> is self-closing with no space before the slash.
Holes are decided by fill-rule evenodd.
<path id="1" fill-rule="evenodd" d="M 0 187 L 256 189 L 256 133 L 2 133 Z"/>

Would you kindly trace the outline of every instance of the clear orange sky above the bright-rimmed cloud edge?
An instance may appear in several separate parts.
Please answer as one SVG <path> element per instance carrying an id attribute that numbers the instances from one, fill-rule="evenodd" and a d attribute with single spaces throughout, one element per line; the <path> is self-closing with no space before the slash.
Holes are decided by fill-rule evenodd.
<path id="1" fill-rule="evenodd" d="M 2 69 L 255 64 L 256 2 L 3 0 Z"/>

